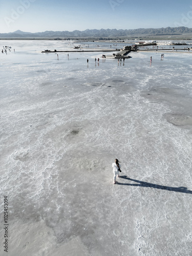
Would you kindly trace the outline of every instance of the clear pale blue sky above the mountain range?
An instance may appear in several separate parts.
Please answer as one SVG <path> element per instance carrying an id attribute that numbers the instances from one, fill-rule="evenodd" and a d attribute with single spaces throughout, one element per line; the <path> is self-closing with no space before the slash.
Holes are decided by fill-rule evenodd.
<path id="1" fill-rule="evenodd" d="M 192 27 L 192 1 L 0 0 L 0 33 Z"/>

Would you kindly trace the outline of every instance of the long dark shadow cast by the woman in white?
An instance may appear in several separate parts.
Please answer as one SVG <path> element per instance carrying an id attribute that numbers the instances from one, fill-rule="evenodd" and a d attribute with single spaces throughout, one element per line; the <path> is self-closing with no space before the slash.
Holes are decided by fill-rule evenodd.
<path id="1" fill-rule="evenodd" d="M 118 185 L 136 186 L 136 187 L 153 187 L 153 188 L 157 188 L 157 189 L 164 189 L 164 190 L 175 191 L 175 192 L 180 192 L 180 193 L 192 194 L 192 191 L 187 190 L 187 187 L 161 186 L 161 185 L 157 185 L 157 184 L 153 184 L 153 183 L 148 183 L 148 182 L 144 182 L 144 181 L 140 181 L 140 180 L 134 180 L 134 179 L 128 178 L 127 176 L 119 176 L 119 178 L 125 179 L 125 180 L 134 181 L 134 182 L 137 182 L 137 183 L 140 183 L 140 184 L 131 184 L 131 183 L 120 183 L 120 182 L 117 182 Z"/>

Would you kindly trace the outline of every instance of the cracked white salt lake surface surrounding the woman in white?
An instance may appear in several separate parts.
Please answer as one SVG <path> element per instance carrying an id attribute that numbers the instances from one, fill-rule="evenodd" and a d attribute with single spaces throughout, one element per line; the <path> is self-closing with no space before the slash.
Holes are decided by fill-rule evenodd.
<path id="1" fill-rule="evenodd" d="M 192 53 L 118 63 L 41 53 L 70 41 L 0 44 L 0 254 L 191 255 Z"/>

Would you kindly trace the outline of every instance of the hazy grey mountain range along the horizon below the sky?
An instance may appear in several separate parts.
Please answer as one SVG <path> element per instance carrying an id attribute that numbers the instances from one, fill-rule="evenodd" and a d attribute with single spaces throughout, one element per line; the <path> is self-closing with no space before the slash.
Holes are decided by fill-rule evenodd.
<path id="1" fill-rule="evenodd" d="M 160 28 L 160 29 L 87 29 L 84 31 L 74 30 L 70 31 L 45 31 L 45 32 L 23 32 L 17 30 L 12 33 L 0 33 L 0 38 L 41 38 L 41 37 L 61 37 L 61 38 L 78 38 L 78 37 L 91 37 L 91 38 L 106 38 L 106 37 L 126 37 L 126 36 L 145 36 L 145 35 L 186 35 L 192 34 L 191 28 L 175 27 L 175 28 Z"/>

